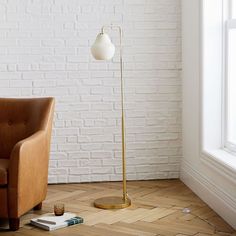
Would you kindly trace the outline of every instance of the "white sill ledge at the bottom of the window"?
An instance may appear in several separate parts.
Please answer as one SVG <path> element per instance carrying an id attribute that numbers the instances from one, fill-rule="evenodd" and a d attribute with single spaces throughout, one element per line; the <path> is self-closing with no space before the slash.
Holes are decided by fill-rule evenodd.
<path id="1" fill-rule="evenodd" d="M 213 167 L 222 175 L 229 177 L 234 183 L 236 181 L 236 156 L 223 150 L 204 150 L 202 161 Z"/>

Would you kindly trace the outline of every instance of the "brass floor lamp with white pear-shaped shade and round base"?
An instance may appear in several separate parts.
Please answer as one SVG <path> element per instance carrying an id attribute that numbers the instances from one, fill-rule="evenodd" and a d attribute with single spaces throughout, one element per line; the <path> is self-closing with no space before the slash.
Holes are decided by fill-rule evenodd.
<path id="1" fill-rule="evenodd" d="M 123 85 L 123 59 L 122 59 L 122 29 L 120 26 L 103 26 L 91 47 L 91 53 L 96 60 L 110 60 L 115 54 L 115 46 L 111 42 L 105 29 L 118 30 L 120 35 L 120 92 L 121 92 L 121 131 L 122 131 L 122 170 L 123 170 L 123 196 L 102 197 L 94 202 L 94 206 L 102 209 L 121 209 L 131 205 L 126 188 L 126 157 L 125 157 L 125 117 L 124 117 L 124 85 Z"/>

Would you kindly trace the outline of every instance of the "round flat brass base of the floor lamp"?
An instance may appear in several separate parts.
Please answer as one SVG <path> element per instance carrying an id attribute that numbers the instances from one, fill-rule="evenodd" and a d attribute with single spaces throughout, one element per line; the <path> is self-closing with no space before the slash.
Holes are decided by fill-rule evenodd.
<path id="1" fill-rule="evenodd" d="M 102 197 L 94 202 L 94 206 L 101 209 L 122 209 L 130 205 L 131 200 L 124 201 L 123 197 Z"/>

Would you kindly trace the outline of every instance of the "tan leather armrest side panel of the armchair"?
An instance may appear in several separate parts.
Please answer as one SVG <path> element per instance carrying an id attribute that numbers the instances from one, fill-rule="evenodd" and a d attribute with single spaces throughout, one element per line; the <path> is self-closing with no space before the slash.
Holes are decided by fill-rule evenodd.
<path id="1" fill-rule="evenodd" d="M 8 176 L 9 214 L 12 217 L 20 216 L 39 203 L 39 199 L 42 201 L 45 198 L 48 160 L 49 145 L 45 130 L 34 133 L 14 146 Z"/>

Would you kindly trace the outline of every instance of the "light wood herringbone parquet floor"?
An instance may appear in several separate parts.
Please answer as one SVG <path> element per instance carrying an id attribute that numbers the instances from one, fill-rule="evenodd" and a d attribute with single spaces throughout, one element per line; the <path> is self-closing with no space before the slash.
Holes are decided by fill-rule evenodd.
<path id="1" fill-rule="evenodd" d="M 18 232 L 1 235 L 68 236 L 210 236 L 235 235 L 236 232 L 179 180 L 128 182 L 132 206 L 122 210 L 101 210 L 93 201 L 106 195 L 120 195 L 121 183 L 49 185 L 43 210 L 31 211 L 21 218 Z M 29 225 L 29 219 L 52 212 L 56 202 L 85 220 L 83 225 L 56 231 L 42 231 Z M 183 208 L 190 213 L 183 213 Z"/>

